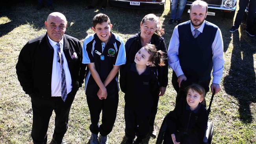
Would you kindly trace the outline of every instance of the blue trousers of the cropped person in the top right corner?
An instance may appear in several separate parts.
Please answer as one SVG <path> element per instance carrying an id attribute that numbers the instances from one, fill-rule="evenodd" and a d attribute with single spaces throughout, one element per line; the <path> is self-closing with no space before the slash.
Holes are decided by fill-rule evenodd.
<path id="1" fill-rule="evenodd" d="M 254 16 L 255 16 L 255 10 L 256 10 L 256 0 L 250 0 L 250 2 L 249 0 L 239 0 L 239 10 L 237 11 L 234 25 L 237 27 L 240 26 L 248 3 L 250 4 L 249 4 L 249 12 L 247 15 L 247 21 L 246 21 L 247 22 L 246 29 L 252 30 L 253 22 L 255 18 Z"/>

